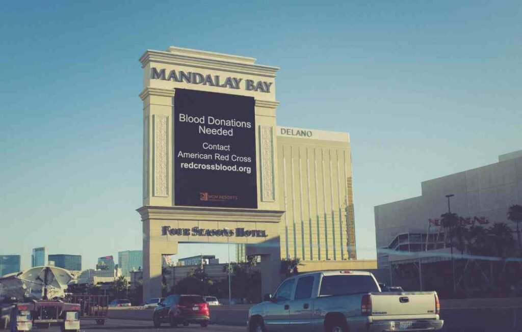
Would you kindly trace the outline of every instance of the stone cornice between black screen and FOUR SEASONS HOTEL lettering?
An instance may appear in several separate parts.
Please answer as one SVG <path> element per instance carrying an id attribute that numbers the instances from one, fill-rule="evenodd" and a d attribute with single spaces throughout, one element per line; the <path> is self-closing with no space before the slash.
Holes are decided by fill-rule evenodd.
<path id="1" fill-rule="evenodd" d="M 197 220 L 215 222 L 279 223 L 284 211 L 244 208 L 151 206 L 136 210 L 141 221 L 148 219 Z"/>

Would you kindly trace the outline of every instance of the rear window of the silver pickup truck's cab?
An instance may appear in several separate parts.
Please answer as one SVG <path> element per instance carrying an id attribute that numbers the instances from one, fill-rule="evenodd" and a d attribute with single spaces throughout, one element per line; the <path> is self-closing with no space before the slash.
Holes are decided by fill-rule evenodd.
<path id="1" fill-rule="evenodd" d="M 375 280 L 369 275 L 326 276 L 321 281 L 319 296 L 378 292 Z"/>

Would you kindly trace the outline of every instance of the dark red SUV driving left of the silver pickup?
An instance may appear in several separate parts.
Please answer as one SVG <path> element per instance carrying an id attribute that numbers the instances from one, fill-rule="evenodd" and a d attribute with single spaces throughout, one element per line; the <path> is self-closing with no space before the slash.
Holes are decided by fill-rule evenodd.
<path id="1" fill-rule="evenodd" d="M 199 324 L 207 327 L 210 320 L 208 303 L 199 295 L 171 295 L 165 298 L 154 309 L 152 321 L 154 327 L 160 327 L 161 323 L 170 323 L 176 327 L 178 324 Z"/>

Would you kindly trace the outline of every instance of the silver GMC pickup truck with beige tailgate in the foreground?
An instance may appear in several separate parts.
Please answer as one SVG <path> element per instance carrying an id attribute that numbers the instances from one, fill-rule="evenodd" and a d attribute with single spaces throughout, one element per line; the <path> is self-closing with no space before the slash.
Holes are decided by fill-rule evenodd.
<path id="1" fill-rule="evenodd" d="M 442 328 L 436 292 L 381 292 L 362 271 L 293 276 L 248 311 L 248 332 L 433 331 Z"/>

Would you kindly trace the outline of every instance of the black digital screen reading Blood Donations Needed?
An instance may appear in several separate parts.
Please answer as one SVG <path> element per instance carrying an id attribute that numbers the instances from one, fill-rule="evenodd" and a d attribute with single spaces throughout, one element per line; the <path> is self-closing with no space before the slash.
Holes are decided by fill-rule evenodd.
<path id="1" fill-rule="evenodd" d="M 174 203 L 257 208 L 254 98 L 176 89 Z"/>

